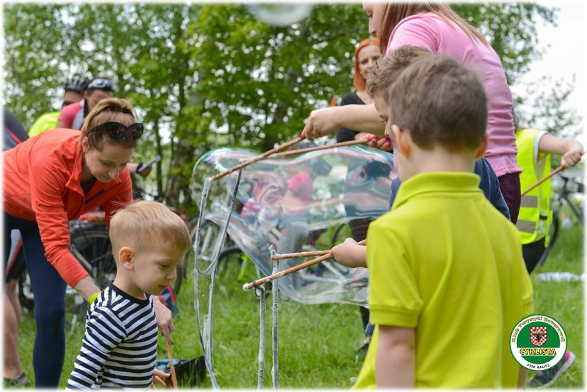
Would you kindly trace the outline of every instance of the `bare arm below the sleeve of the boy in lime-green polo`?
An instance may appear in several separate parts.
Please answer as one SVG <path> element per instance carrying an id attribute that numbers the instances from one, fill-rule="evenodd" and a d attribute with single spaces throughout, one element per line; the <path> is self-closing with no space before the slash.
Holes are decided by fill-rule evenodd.
<path id="1" fill-rule="evenodd" d="M 378 388 L 415 386 L 415 333 L 413 328 L 379 326 L 375 359 Z"/>

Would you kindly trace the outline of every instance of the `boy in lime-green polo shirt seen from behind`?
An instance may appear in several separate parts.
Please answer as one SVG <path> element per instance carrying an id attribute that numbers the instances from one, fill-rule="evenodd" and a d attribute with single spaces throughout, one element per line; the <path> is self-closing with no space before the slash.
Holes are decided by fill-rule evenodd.
<path id="1" fill-rule="evenodd" d="M 532 286 L 515 226 L 472 173 L 488 141 L 483 81 L 431 55 L 384 95 L 402 186 L 367 234 L 375 333 L 355 387 L 522 386 L 509 336 Z"/>

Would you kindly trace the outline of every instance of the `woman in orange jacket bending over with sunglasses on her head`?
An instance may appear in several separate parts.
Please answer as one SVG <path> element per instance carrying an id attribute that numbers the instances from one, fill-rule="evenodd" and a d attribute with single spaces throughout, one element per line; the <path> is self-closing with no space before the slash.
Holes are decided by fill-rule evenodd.
<path id="1" fill-rule="evenodd" d="M 116 209 L 132 202 L 126 165 L 141 134 L 143 124 L 136 123 L 127 101 L 104 99 L 88 114 L 81 132 L 55 128 L 3 152 L 4 247 L 10 246 L 10 230 L 19 229 L 34 293 L 37 388 L 59 385 L 66 285 L 85 300 L 100 291 L 69 249 L 68 222 L 103 206 L 109 223 Z M 171 314 L 155 302 L 158 325 L 170 340 Z"/>

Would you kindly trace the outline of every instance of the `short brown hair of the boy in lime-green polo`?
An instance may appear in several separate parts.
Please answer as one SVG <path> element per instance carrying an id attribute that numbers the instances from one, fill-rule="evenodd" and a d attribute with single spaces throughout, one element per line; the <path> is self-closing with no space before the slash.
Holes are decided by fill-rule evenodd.
<path id="1" fill-rule="evenodd" d="M 477 70 L 449 56 L 409 65 L 389 89 L 391 122 L 422 149 L 477 149 L 487 127 L 488 97 Z"/>

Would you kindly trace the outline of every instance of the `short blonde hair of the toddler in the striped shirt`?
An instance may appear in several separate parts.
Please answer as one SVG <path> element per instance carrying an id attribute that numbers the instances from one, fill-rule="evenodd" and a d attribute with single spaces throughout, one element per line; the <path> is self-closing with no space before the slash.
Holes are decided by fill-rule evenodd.
<path id="1" fill-rule="evenodd" d="M 110 242 L 130 247 L 169 245 L 187 252 L 192 247 L 182 218 L 156 201 L 140 200 L 120 209 L 110 220 Z M 113 249 L 116 256 L 116 250 Z"/>

